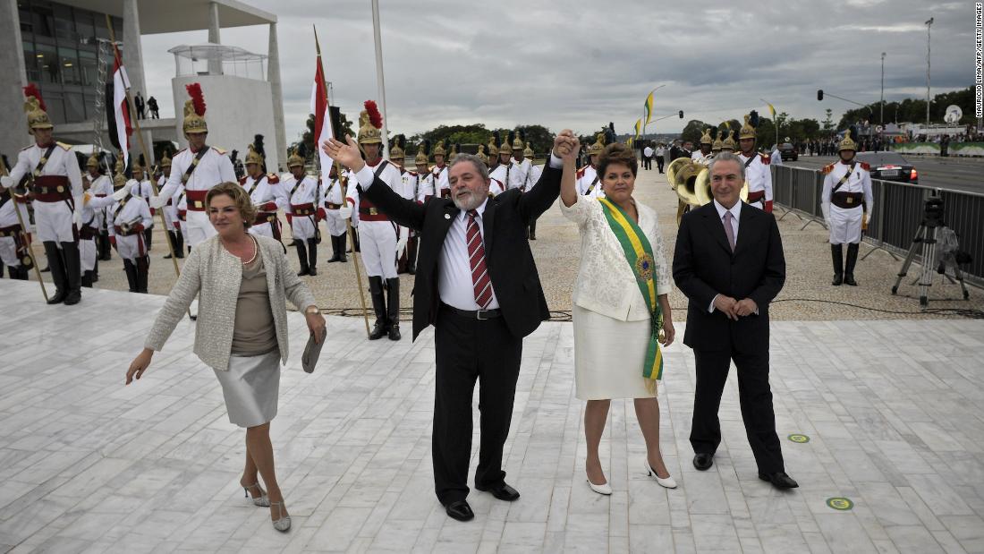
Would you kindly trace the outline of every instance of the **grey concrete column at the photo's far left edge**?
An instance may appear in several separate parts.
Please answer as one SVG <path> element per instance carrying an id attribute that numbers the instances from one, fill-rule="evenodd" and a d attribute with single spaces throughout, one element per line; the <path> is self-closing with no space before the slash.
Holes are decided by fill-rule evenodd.
<path id="1" fill-rule="evenodd" d="M 24 89 L 28 74 L 24 66 L 24 46 L 17 0 L 0 0 L 0 67 L 10 72 L 9 79 L 0 80 L 0 152 L 11 163 L 17 153 L 31 144 L 28 118 L 24 114 Z M 42 91 L 43 93 L 43 91 Z M 58 129 L 55 128 L 55 137 Z"/>

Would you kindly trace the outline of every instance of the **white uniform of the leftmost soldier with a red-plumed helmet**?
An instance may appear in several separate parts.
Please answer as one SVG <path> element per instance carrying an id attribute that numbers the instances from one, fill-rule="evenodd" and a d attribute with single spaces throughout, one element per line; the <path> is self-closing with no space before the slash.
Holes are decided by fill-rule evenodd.
<path id="1" fill-rule="evenodd" d="M 17 154 L 17 163 L 10 171 L 15 184 L 34 171 L 37 162 L 47 150 L 48 147 L 42 149 L 33 144 Z M 30 179 L 28 182 L 31 183 Z M 49 194 L 61 194 L 63 197 L 58 200 L 40 200 L 35 196 L 31 201 L 38 238 L 41 242 L 75 242 L 72 217 L 75 202 L 82 200 L 83 189 L 82 170 L 79 169 L 79 161 L 71 147 L 54 143 L 44 166 L 34 175 L 32 192 L 37 190 L 36 187 L 44 187 Z M 62 191 L 56 193 L 58 187 Z"/>

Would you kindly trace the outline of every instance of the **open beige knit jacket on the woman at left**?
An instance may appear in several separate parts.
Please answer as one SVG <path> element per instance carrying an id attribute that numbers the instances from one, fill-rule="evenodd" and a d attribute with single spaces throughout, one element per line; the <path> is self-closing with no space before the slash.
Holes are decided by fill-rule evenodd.
<path id="1" fill-rule="evenodd" d="M 257 236 L 256 239 L 263 256 L 263 265 L 267 268 L 267 288 L 270 290 L 270 307 L 274 312 L 274 324 L 277 328 L 280 361 L 286 363 L 286 300 L 289 299 L 297 309 L 303 310 L 314 305 L 315 299 L 307 285 L 290 269 L 279 241 L 265 236 Z M 185 261 L 181 277 L 178 277 L 167 301 L 157 314 L 151 335 L 144 346 L 152 350 L 163 348 L 164 342 L 198 295 L 194 352 L 209 367 L 219 371 L 228 370 L 242 277 L 242 261 L 225 250 L 218 236 L 196 246 Z"/>

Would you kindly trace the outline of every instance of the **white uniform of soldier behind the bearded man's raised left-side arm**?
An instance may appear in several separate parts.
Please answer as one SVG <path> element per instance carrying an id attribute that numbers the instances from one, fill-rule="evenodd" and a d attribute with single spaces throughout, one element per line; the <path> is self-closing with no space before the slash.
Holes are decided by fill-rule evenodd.
<path id="1" fill-rule="evenodd" d="M 380 169 L 380 163 L 385 166 Z M 366 164 L 373 173 L 386 183 L 394 192 L 407 200 L 411 200 L 400 180 L 400 169 L 393 163 L 383 160 L 375 166 Z M 447 175 L 448 167 L 443 173 Z M 443 176 L 442 176 L 443 178 Z M 349 183 L 357 183 L 352 179 Z M 440 182 L 440 179 L 438 179 Z M 379 212 L 369 200 L 362 198 L 358 187 L 348 187 L 348 194 L 358 203 L 359 210 L 359 246 L 362 251 L 362 263 L 369 277 L 397 278 L 397 241 L 400 239 L 400 229 L 390 218 Z M 405 231 L 404 231 L 405 232 Z"/>

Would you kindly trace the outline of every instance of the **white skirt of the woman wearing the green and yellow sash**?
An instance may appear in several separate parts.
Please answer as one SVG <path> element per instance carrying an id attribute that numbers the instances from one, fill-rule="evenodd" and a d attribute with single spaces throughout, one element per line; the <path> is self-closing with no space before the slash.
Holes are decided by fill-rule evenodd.
<path id="1" fill-rule="evenodd" d="M 649 320 L 619 321 L 574 306 L 574 370 L 579 400 L 651 399 L 643 365 Z"/>

